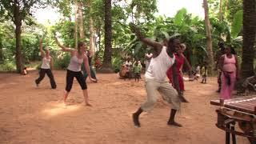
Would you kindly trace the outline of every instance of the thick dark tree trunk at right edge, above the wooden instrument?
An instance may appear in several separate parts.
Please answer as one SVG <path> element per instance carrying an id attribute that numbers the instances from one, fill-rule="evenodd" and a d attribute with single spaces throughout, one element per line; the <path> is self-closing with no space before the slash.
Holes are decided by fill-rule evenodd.
<path id="1" fill-rule="evenodd" d="M 254 42 L 256 34 L 255 3 L 255 0 L 243 1 L 242 78 L 248 78 L 254 74 Z"/>

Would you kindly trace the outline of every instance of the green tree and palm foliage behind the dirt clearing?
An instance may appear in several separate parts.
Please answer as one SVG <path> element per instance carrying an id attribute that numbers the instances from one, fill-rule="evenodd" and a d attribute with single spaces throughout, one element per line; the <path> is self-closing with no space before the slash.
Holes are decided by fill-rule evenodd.
<path id="1" fill-rule="evenodd" d="M 7 2 L 7 1 L 5 1 Z M 14 26 L 10 25 L 11 21 L 3 22 L 6 16 L 12 12 L 3 9 L 3 4 L 0 2 L 0 47 L 2 47 L 4 64 L 6 69 L 11 69 L 11 62 L 14 61 L 15 54 L 15 35 Z M 26 1 L 24 1 L 26 2 Z M 38 1 L 46 2 L 46 1 Z M 87 5 L 88 0 L 84 3 L 84 29 L 86 42 L 89 41 L 89 25 L 90 16 L 94 21 L 94 30 L 97 34 L 98 58 L 103 58 L 104 52 L 104 2 L 103 0 L 90 1 L 90 7 Z M 129 3 L 130 2 L 130 3 Z M 131 57 L 139 59 L 143 62 L 144 54 L 150 47 L 145 46 L 131 33 L 128 23 L 133 20 L 140 26 L 142 33 L 147 38 L 162 42 L 165 38 L 178 37 L 186 44 L 185 55 L 193 65 L 197 65 L 207 58 L 206 51 L 206 32 L 204 21 L 198 17 L 191 17 L 186 9 L 178 10 L 174 18 L 166 18 L 163 16 L 155 17 L 157 11 L 156 0 L 132 0 L 120 1 L 112 0 L 112 66 L 115 71 L 120 69 L 124 58 Z M 226 44 L 231 44 L 241 54 L 241 27 L 242 27 L 242 0 L 229 1 L 222 0 L 222 11 L 224 14 L 223 21 L 218 19 L 219 1 L 209 0 L 210 2 L 210 22 L 212 25 L 212 37 L 214 52 L 217 50 L 218 41 L 226 40 Z M 57 69 L 66 69 L 70 62 L 70 55 L 63 54 L 59 47 L 54 42 L 54 32 L 58 31 L 61 34 L 63 45 L 74 47 L 74 22 L 70 21 L 74 15 L 72 8 L 74 1 L 51 1 L 50 6 L 57 7 L 63 14 L 64 18 L 54 26 L 40 26 L 33 23 L 33 18 L 30 17 L 30 10 L 26 13 L 26 23 L 22 25 L 22 54 L 24 62 L 28 64 L 34 61 L 41 61 L 38 50 L 39 38 L 43 40 L 43 47 L 50 48 L 50 54 L 54 58 L 54 67 Z M 44 3 L 39 3 L 43 6 Z M 236 6 L 237 5 L 237 6 Z M 31 25 L 33 24 L 33 25 Z M 89 43 L 88 43 L 89 44 Z M 38 65 L 40 66 L 40 65 Z"/>

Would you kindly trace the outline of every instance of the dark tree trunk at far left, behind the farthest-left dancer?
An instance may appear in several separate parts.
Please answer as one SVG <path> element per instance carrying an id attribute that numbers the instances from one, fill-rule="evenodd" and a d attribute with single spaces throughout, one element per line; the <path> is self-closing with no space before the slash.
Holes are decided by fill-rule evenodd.
<path id="1" fill-rule="evenodd" d="M 22 15 L 20 14 L 20 7 L 18 2 L 14 1 L 14 24 L 15 24 L 15 37 L 16 37 L 16 70 L 18 73 L 22 73 Z"/>

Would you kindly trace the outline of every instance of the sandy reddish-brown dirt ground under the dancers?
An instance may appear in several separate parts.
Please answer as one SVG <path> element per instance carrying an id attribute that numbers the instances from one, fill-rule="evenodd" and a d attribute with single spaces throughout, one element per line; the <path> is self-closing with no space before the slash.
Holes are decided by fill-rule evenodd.
<path id="1" fill-rule="evenodd" d="M 57 90 L 50 89 L 47 77 L 36 87 L 37 71 L 26 76 L 0 74 L 0 143 L 225 143 L 225 133 L 215 126 L 217 106 L 210 105 L 211 99 L 218 98 L 216 78 L 208 78 L 207 84 L 185 82 L 190 103 L 182 104 L 176 117 L 182 128 L 166 125 L 170 106 L 161 97 L 154 110 L 142 114 L 142 127 L 135 128 L 131 114 L 146 99 L 143 79 L 97 76 L 98 83 L 87 82 L 93 106 L 83 105 L 82 91 L 74 80 L 65 109 L 58 100 L 66 85 L 66 71 L 54 71 Z M 249 142 L 238 137 L 237 143 Z"/>

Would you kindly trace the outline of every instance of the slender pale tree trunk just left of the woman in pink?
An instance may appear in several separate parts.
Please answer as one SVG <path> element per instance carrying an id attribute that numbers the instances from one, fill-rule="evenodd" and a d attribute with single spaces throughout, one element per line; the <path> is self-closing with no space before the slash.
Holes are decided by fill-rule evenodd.
<path id="1" fill-rule="evenodd" d="M 209 74 L 213 74 L 213 65 L 214 65 L 214 57 L 213 57 L 213 45 L 212 45 L 212 38 L 211 38 L 211 26 L 210 26 L 210 19 L 208 14 L 208 2 L 207 0 L 203 0 L 203 7 L 205 10 L 205 25 L 206 25 L 206 40 L 207 40 L 207 51 L 208 51 L 208 72 Z"/>

